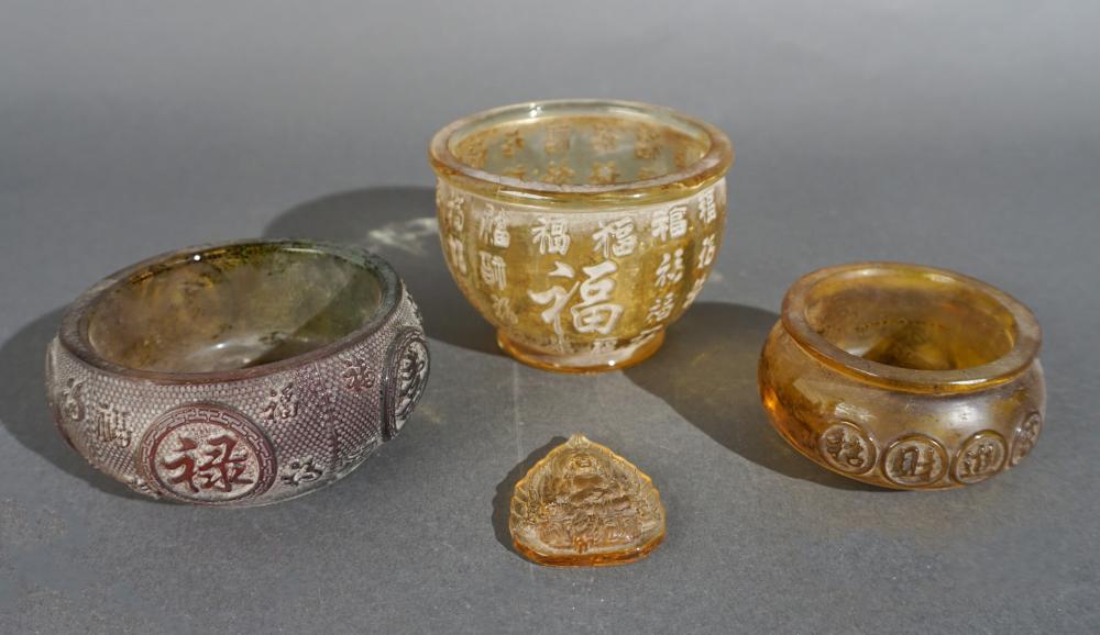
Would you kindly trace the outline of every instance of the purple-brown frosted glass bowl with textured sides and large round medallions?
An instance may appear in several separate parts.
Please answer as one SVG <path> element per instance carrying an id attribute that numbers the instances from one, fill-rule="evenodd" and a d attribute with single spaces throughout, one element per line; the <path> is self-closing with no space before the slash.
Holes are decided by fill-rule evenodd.
<path id="1" fill-rule="evenodd" d="M 202 246 L 123 269 L 69 308 L 46 359 L 62 435 L 152 497 L 293 498 L 404 425 L 428 349 L 381 258 L 295 241 Z"/>

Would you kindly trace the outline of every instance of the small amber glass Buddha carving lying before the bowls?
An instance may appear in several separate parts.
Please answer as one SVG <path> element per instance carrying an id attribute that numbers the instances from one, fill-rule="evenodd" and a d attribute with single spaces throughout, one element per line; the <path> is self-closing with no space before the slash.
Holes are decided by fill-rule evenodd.
<path id="1" fill-rule="evenodd" d="M 516 548 L 540 565 L 620 565 L 661 543 L 664 506 L 648 476 L 574 434 L 516 483 L 509 528 Z"/>

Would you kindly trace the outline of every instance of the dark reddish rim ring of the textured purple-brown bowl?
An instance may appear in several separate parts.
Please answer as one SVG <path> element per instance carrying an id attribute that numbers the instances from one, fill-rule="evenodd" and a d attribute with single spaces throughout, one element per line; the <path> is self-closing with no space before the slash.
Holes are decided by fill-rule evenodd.
<path id="1" fill-rule="evenodd" d="M 88 320 L 90 318 L 89 311 L 96 305 L 105 293 L 118 288 L 136 276 L 156 276 L 157 272 L 155 270 L 151 271 L 153 268 L 186 266 L 188 261 L 195 263 L 204 260 L 205 255 L 241 247 L 255 246 L 274 247 L 279 250 L 292 253 L 320 253 L 342 258 L 362 266 L 377 278 L 382 287 L 382 298 L 380 299 L 377 310 L 375 310 L 371 318 L 358 328 L 351 331 L 350 333 L 345 333 L 337 341 L 330 342 L 324 346 L 267 364 L 231 370 L 180 372 L 172 370 L 147 370 L 133 368 L 105 358 L 96 352 L 96 349 L 91 346 L 91 343 L 88 341 Z M 332 357 L 354 346 L 371 336 L 389 321 L 391 315 L 397 310 L 403 291 L 404 282 L 397 276 L 397 272 L 389 265 L 389 263 L 359 246 L 301 238 L 246 238 L 242 241 L 222 243 L 207 243 L 185 247 L 183 249 L 165 252 L 151 258 L 146 258 L 119 269 L 99 282 L 92 285 L 78 296 L 68 309 L 66 309 L 57 333 L 57 341 L 80 361 L 101 372 L 120 378 L 150 381 L 157 385 L 205 385 L 244 381 L 300 368 L 305 365 Z"/>

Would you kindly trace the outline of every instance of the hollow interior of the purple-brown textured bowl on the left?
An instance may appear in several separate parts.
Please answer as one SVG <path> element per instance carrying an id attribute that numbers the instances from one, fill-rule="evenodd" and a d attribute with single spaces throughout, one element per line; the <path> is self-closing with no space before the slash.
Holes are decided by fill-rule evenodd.
<path id="1" fill-rule="evenodd" d="M 367 323 L 382 297 L 362 263 L 300 245 L 234 245 L 118 281 L 89 307 L 81 333 L 127 368 L 224 371 L 331 344 Z"/>

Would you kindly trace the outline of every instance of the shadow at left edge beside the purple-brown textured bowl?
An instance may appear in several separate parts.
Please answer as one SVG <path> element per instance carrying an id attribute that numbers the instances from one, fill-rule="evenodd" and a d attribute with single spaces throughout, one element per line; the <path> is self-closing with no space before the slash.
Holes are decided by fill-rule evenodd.
<path id="1" fill-rule="evenodd" d="M 58 434 L 46 401 L 46 345 L 57 334 L 64 309 L 20 328 L 0 347 L 0 421 L 23 447 L 69 475 L 117 497 L 150 500 L 91 467 Z"/>

